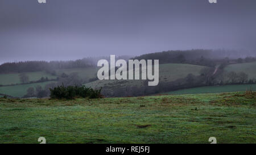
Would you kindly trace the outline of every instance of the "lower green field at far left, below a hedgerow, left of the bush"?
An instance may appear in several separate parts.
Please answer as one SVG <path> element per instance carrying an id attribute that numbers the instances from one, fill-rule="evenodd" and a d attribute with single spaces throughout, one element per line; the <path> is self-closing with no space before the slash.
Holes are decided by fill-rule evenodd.
<path id="1" fill-rule="evenodd" d="M 24 95 L 27 94 L 27 89 L 29 87 L 35 87 L 35 86 L 39 85 L 44 88 L 44 86 L 46 86 L 48 83 L 52 83 L 52 82 L 54 82 L 54 81 L 31 83 L 31 84 L 16 85 L 16 86 L 3 86 L 3 87 L 0 87 L 0 93 L 11 95 L 13 97 L 23 97 Z"/>

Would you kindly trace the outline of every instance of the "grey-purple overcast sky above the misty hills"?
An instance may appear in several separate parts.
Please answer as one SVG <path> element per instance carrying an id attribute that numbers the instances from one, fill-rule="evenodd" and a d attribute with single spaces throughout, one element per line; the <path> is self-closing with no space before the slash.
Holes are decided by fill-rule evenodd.
<path id="1" fill-rule="evenodd" d="M 0 63 L 255 43 L 255 0 L 0 1 Z"/>

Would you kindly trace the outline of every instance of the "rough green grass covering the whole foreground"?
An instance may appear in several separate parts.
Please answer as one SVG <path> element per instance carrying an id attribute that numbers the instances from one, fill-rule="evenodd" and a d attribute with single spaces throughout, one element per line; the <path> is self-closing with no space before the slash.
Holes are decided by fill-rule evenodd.
<path id="1" fill-rule="evenodd" d="M 0 99 L 0 143 L 256 143 L 256 92 Z"/>

